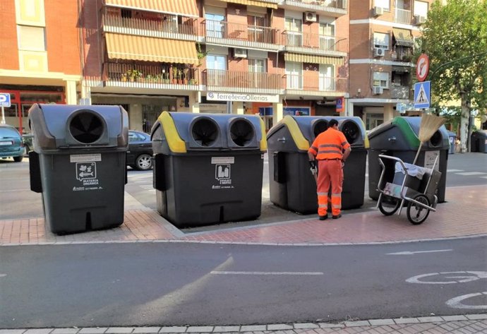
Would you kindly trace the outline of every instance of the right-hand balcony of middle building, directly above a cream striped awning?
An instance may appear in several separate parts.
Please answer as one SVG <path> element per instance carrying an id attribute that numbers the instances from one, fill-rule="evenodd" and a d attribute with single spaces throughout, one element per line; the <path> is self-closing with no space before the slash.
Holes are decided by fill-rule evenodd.
<path id="1" fill-rule="evenodd" d="M 347 56 L 348 52 L 346 37 L 284 31 L 284 42 L 288 52 L 320 56 Z"/>

